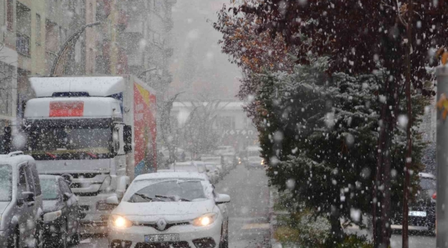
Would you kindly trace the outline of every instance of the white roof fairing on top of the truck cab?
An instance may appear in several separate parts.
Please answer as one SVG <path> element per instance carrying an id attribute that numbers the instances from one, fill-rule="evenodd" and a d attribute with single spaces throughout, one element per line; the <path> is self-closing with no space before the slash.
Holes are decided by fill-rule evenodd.
<path id="1" fill-rule="evenodd" d="M 29 80 L 37 97 L 51 97 L 57 92 L 111 96 L 125 91 L 125 80 L 121 76 L 32 77 Z"/>

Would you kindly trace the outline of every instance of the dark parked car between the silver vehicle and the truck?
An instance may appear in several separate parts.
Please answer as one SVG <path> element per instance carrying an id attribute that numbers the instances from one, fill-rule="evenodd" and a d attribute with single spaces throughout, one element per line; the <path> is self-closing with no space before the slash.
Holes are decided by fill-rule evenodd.
<path id="1" fill-rule="evenodd" d="M 43 240 L 46 247 L 68 247 L 79 243 L 79 220 L 85 217 L 68 180 L 39 175 L 43 194 Z"/>

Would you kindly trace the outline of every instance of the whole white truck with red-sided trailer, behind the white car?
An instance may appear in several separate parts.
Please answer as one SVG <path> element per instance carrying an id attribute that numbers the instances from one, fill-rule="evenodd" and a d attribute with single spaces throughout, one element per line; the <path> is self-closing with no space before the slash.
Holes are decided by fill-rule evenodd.
<path id="1" fill-rule="evenodd" d="M 113 208 L 105 199 L 156 171 L 154 91 L 135 76 L 29 80 L 37 97 L 12 144 L 36 160 L 39 174 L 69 176 L 86 214 L 81 224 L 101 231 Z"/>

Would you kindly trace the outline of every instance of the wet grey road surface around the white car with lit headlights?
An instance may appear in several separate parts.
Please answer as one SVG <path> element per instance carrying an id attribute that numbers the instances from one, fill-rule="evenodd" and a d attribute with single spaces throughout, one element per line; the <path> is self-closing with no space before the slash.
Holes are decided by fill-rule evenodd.
<path id="1" fill-rule="evenodd" d="M 215 185 L 229 194 L 230 248 L 269 248 L 269 189 L 264 170 L 247 170 L 238 165 Z M 76 248 L 107 248 L 105 237 L 83 237 Z"/>

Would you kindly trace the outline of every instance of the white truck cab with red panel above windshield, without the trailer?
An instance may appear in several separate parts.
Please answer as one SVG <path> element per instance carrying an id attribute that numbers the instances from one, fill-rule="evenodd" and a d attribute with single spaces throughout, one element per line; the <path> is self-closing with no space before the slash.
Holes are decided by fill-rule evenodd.
<path id="1" fill-rule="evenodd" d="M 127 154 L 132 126 L 123 118 L 122 77 L 30 78 L 37 98 L 26 104 L 23 145 L 39 174 L 68 176 L 86 216 L 82 224 L 105 226 L 111 195 L 130 184 Z"/>

